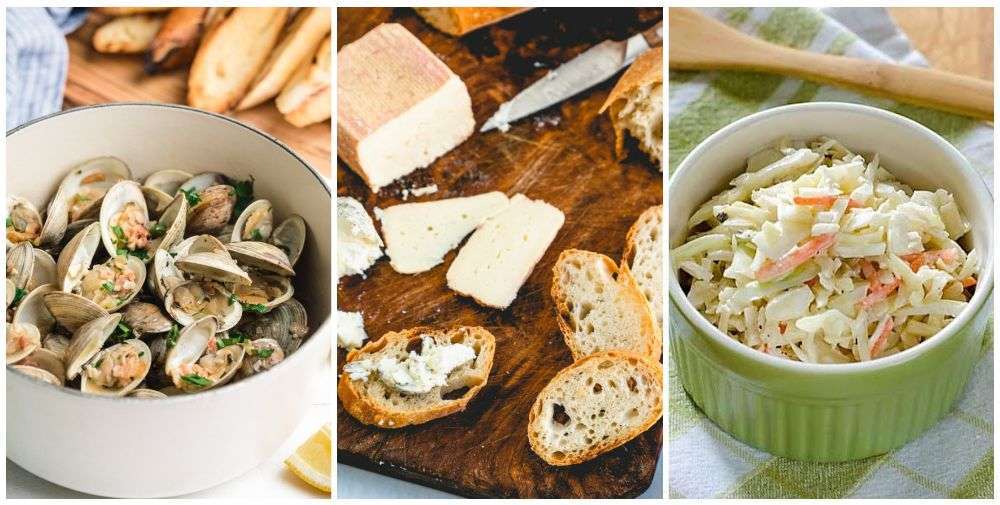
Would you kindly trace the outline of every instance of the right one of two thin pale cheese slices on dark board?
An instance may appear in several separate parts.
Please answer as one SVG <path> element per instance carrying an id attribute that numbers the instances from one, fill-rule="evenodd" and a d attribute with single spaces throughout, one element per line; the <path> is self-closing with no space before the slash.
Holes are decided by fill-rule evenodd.
<path id="1" fill-rule="evenodd" d="M 507 308 L 562 227 L 562 211 L 514 195 L 469 237 L 448 268 L 448 287 L 481 305 Z"/>

